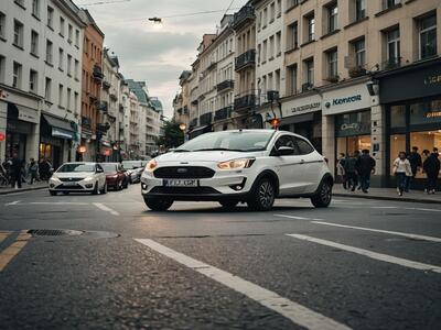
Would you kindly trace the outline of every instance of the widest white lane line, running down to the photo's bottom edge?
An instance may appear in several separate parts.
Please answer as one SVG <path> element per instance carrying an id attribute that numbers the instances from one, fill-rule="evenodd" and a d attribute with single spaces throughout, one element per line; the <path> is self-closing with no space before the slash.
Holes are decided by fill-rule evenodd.
<path id="1" fill-rule="evenodd" d="M 178 251 L 169 249 L 162 244 L 159 244 L 152 240 L 136 240 L 137 242 L 149 246 L 150 249 L 165 255 L 175 262 L 192 268 L 193 271 L 205 275 L 245 296 L 248 298 L 256 300 L 260 305 L 272 309 L 273 311 L 282 315 L 283 317 L 290 319 L 294 323 L 304 327 L 306 329 L 351 329 L 345 324 L 338 323 L 325 316 L 318 314 L 306 307 L 289 300 L 284 297 L 279 296 L 278 294 L 270 292 L 266 288 L 262 288 L 251 282 L 243 279 L 238 276 L 235 276 L 230 273 L 216 268 L 212 265 L 200 262 L 195 258 L 192 258 L 185 254 L 182 254 Z"/>

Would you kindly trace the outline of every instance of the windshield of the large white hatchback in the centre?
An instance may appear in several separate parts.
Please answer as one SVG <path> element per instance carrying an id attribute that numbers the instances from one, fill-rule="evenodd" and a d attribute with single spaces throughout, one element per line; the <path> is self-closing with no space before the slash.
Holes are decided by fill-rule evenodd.
<path id="1" fill-rule="evenodd" d="M 269 141 L 273 135 L 273 131 L 225 131 L 206 133 L 200 135 L 180 147 L 174 152 L 197 152 L 197 151 L 238 151 L 252 152 L 263 151 L 267 148 Z"/>

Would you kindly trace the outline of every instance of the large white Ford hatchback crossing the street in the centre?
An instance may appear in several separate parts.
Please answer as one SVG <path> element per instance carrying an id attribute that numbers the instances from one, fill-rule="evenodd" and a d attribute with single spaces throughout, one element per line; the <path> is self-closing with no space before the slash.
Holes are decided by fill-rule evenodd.
<path id="1" fill-rule="evenodd" d="M 151 160 L 141 191 L 152 210 L 168 210 L 174 200 L 211 200 L 266 211 L 283 197 L 327 207 L 333 184 L 325 158 L 303 136 L 238 130 L 206 133 Z"/>

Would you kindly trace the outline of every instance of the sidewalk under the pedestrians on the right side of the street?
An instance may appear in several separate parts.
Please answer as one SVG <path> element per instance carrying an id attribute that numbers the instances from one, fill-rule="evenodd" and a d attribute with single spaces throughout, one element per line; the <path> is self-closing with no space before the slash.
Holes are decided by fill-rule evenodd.
<path id="1" fill-rule="evenodd" d="M 400 201 L 441 205 L 441 191 L 438 191 L 438 194 L 435 195 L 428 195 L 421 190 L 412 190 L 410 193 L 405 193 L 404 196 L 398 196 L 397 189 L 395 188 L 370 188 L 369 193 L 365 194 L 362 190 L 355 190 L 355 191 L 345 190 L 343 189 L 341 184 L 336 184 L 333 188 L 333 195 L 340 197 L 400 200 Z"/>

